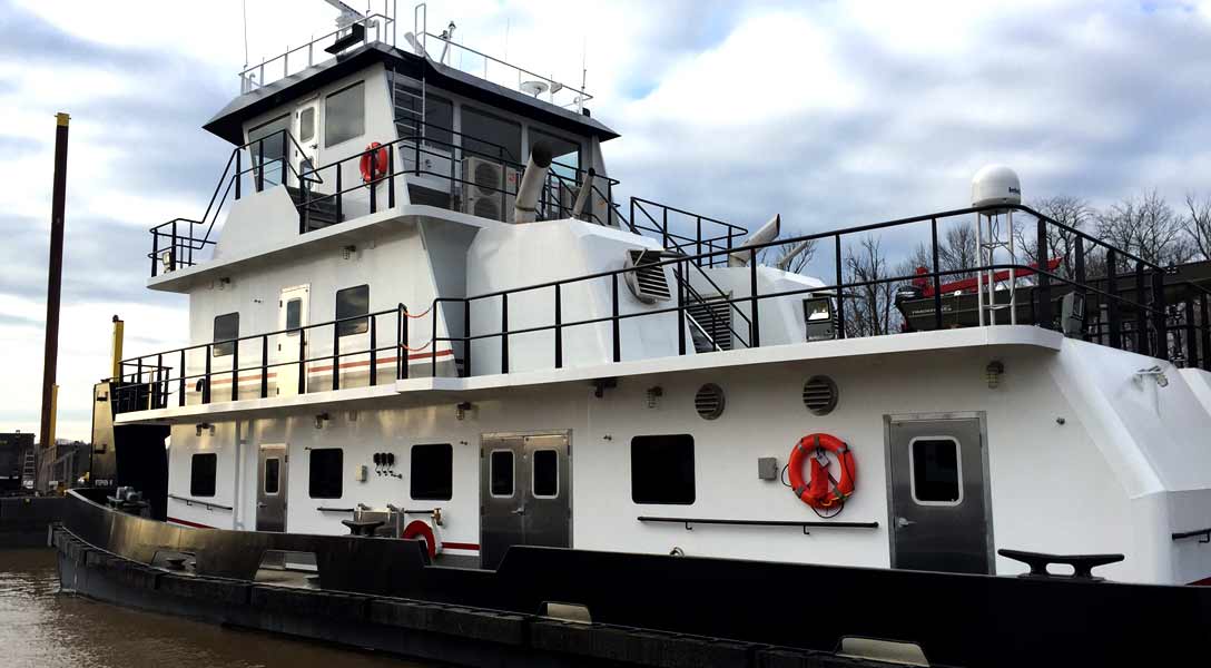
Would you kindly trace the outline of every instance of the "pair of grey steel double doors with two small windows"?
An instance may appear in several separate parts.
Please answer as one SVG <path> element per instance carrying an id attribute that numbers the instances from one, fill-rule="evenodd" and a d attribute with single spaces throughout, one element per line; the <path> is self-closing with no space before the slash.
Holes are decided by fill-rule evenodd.
<path id="1" fill-rule="evenodd" d="M 510 546 L 572 547 L 569 434 L 486 434 L 481 445 L 480 565 Z"/>

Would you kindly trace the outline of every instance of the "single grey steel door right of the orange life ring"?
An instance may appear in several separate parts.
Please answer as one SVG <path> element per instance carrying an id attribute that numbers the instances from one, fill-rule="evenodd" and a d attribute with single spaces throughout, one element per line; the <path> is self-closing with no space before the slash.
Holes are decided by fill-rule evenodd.
<path id="1" fill-rule="evenodd" d="M 891 567 L 992 573 L 983 413 L 884 419 Z"/>

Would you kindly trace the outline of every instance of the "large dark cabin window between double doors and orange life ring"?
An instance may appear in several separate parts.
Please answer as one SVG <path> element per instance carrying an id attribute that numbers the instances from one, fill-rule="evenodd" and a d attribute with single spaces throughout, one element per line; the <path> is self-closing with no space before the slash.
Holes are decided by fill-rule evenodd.
<path id="1" fill-rule="evenodd" d="M 694 503 L 694 436 L 668 434 L 631 439 L 631 501 Z"/>

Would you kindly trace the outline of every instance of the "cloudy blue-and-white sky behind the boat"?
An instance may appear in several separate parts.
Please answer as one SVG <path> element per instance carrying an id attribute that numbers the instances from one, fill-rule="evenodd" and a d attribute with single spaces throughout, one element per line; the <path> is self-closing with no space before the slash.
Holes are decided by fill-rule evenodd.
<path id="1" fill-rule="evenodd" d="M 352 2 L 362 7 L 360 2 Z M 1027 198 L 1211 193 L 1211 1 L 429 1 L 429 28 L 596 96 L 642 194 L 787 232 L 965 206 L 983 164 Z M 400 34 L 412 27 L 400 4 Z M 253 62 L 331 29 L 321 0 L 247 0 Z M 406 24 L 404 24 L 406 23 Z M 144 287 L 148 228 L 196 217 L 229 147 L 240 1 L 0 0 L 0 432 L 36 430 L 53 114 L 71 114 L 59 435 L 88 438 L 109 320 L 185 343 Z"/>

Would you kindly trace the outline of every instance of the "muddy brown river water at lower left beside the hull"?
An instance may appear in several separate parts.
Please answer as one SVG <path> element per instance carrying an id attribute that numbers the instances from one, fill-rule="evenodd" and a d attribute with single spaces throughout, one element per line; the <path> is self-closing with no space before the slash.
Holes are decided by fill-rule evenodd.
<path id="1" fill-rule="evenodd" d="M 0 549 L 6 668 L 423 668 L 385 655 L 127 610 L 59 592 L 54 552 Z"/>

